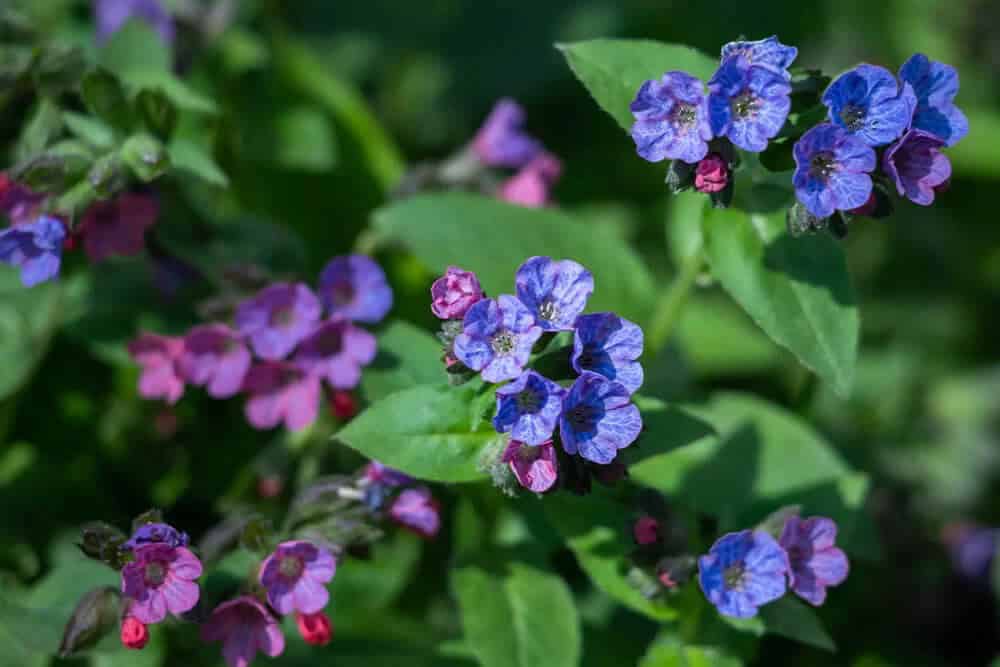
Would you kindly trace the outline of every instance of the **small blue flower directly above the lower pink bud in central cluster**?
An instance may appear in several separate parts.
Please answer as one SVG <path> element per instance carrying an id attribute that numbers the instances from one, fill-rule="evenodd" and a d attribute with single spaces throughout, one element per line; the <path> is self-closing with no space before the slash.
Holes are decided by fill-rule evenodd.
<path id="1" fill-rule="evenodd" d="M 552 439 L 562 413 L 566 390 L 534 371 L 527 371 L 510 384 L 497 389 L 497 414 L 493 426 L 498 433 L 528 445 Z"/>

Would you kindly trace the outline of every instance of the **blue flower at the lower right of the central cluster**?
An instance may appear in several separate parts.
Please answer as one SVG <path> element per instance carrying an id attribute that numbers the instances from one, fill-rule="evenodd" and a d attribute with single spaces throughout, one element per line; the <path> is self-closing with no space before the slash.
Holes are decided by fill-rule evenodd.
<path id="1" fill-rule="evenodd" d="M 611 463 L 642 431 L 639 408 L 628 389 L 603 375 L 583 371 L 563 400 L 559 434 L 567 454 L 594 463 Z"/>

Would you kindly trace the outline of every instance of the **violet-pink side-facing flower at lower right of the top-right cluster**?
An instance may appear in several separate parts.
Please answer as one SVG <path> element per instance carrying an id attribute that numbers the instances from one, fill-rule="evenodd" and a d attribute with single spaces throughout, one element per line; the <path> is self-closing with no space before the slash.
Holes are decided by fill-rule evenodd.
<path id="1" fill-rule="evenodd" d="M 908 130 L 882 156 L 882 171 L 896 191 L 921 206 L 934 203 L 934 190 L 951 178 L 951 162 L 941 152 L 944 139 L 924 130 Z"/>

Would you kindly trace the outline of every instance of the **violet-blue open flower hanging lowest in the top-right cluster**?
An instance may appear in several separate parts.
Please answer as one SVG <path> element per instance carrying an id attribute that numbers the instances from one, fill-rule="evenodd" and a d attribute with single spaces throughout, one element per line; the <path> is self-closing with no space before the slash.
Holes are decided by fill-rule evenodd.
<path id="1" fill-rule="evenodd" d="M 872 192 L 875 151 L 837 125 L 822 123 L 795 142 L 795 196 L 818 218 L 863 206 Z"/>

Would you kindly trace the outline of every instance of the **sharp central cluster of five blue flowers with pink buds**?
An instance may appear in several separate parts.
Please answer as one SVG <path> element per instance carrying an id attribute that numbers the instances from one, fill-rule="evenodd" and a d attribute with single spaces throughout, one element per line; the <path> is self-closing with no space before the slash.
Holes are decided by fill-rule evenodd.
<path id="1" fill-rule="evenodd" d="M 614 313 L 583 314 L 594 291 L 589 271 L 571 260 L 532 257 L 517 270 L 516 296 L 487 298 L 475 274 L 458 267 L 431 288 L 432 310 L 446 320 L 442 340 L 452 373 L 468 370 L 496 390 L 497 432 L 510 437 L 501 456 L 535 492 L 558 478 L 555 440 L 570 457 L 615 463 L 642 430 L 632 394 L 642 384 L 642 330 Z M 576 379 L 564 386 L 528 368 L 536 347 L 571 332 Z M 544 336 L 544 338 L 543 338 Z"/>

